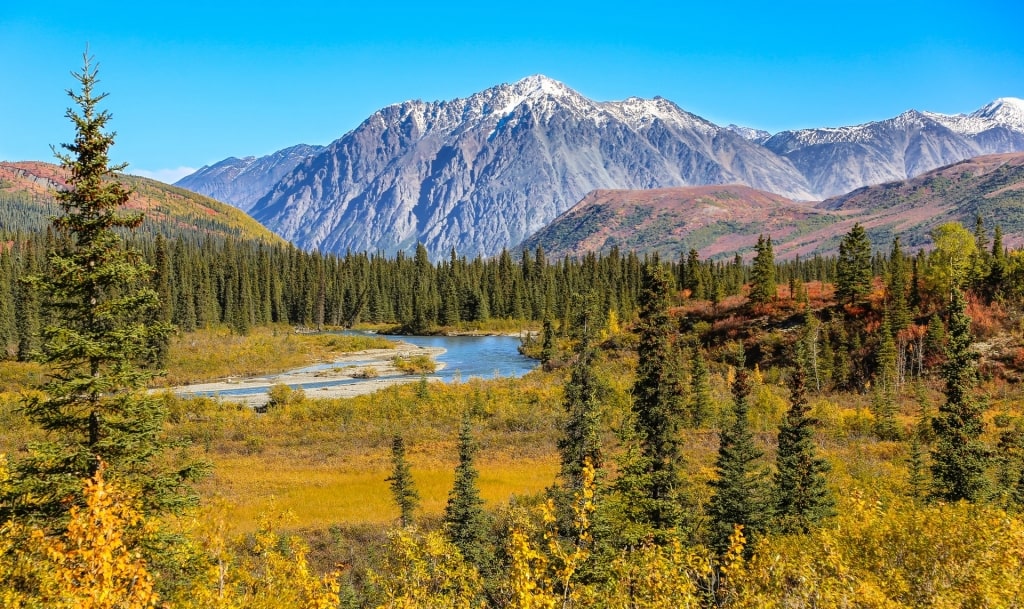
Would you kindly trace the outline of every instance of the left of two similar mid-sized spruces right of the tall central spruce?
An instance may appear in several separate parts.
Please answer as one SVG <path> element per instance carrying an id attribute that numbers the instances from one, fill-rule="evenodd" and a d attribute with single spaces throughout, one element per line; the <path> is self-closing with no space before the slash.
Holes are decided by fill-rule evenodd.
<path id="1" fill-rule="evenodd" d="M 754 444 L 748 420 L 750 392 L 748 373 L 740 368 L 732 384 L 733 419 L 719 432 L 716 478 L 710 483 L 714 493 L 708 506 L 711 547 L 719 554 L 729 547 L 729 535 L 735 525 L 743 525 L 746 538 L 753 540 L 765 531 L 770 515 L 765 474 L 760 465 L 762 453 Z"/>

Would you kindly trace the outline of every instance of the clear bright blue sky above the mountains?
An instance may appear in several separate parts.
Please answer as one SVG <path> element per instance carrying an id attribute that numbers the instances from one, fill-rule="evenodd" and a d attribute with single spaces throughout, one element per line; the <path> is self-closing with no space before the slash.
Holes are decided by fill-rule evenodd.
<path id="1" fill-rule="evenodd" d="M 531 74 L 772 132 L 971 112 L 1024 97 L 1022 24 L 1020 0 L 4 0 L 0 160 L 70 141 L 63 91 L 86 43 L 113 157 L 142 173 L 326 144 L 389 103 Z"/>

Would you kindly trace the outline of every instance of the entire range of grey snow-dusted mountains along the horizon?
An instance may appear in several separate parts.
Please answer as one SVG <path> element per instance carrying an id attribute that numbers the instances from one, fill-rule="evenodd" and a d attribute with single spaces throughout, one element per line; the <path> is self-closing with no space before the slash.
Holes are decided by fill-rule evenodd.
<path id="1" fill-rule="evenodd" d="M 323 148 L 228 159 L 178 185 L 304 249 L 494 255 L 600 189 L 742 184 L 820 201 L 979 155 L 1024 150 L 1024 101 L 855 127 L 719 127 L 673 102 L 598 102 L 543 76 L 407 101 Z M 278 176 L 281 176 L 280 178 Z"/>

